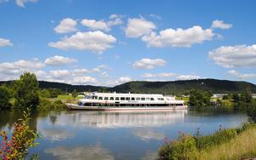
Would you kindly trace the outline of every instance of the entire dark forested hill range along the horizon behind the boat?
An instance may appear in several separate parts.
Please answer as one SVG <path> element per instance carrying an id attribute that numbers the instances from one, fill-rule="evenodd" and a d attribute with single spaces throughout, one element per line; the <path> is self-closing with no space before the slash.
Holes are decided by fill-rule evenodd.
<path id="1" fill-rule="evenodd" d="M 0 82 L 4 83 L 4 82 Z M 10 83 L 5 82 L 5 83 Z M 212 91 L 213 94 L 233 94 L 241 93 L 247 88 L 250 88 L 252 93 L 256 93 L 256 85 L 253 83 L 228 81 L 218 79 L 194 79 L 183 81 L 169 81 L 169 82 L 146 82 L 146 81 L 133 81 L 123 83 L 113 88 L 92 86 L 92 85 L 71 85 L 67 83 L 51 83 L 39 81 L 41 89 L 56 88 L 65 91 L 99 91 L 104 89 L 106 91 L 116 92 L 131 92 L 131 93 L 147 93 L 147 94 L 184 94 L 190 89 L 201 89 Z"/>

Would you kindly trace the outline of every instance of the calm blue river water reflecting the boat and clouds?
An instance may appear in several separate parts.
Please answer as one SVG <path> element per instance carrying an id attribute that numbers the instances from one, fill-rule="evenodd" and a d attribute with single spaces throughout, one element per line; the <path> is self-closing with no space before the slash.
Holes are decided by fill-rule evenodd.
<path id="1" fill-rule="evenodd" d="M 0 129 L 12 129 L 19 115 L 0 111 Z M 210 134 L 246 120 L 234 111 L 40 111 L 30 124 L 40 144 L 31 152 L 39 159 L 154 159 L 165 137 L 177 138 L 179 131 Z"/>

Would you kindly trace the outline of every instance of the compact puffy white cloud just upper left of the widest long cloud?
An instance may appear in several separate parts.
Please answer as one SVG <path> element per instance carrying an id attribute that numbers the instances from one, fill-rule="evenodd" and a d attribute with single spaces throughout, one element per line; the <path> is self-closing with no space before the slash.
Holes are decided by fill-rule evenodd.
<path id="1" fill-rule="evenodd" d="M 152 21 L 144 19 L 128 19 L 128 24 L 125 28 L 126 37 L 141 37 L 150 33 L 156 26 Z"/>

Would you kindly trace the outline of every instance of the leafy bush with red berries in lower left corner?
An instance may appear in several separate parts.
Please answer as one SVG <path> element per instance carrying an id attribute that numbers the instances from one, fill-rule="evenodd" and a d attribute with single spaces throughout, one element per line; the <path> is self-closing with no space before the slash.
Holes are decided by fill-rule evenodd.
<path id="1" fill-rule="evenodd" d="M 35 140 L 38 134 L 30 129 L 28 123 L 30 120 L 30 110 L 23 112 L 23 118 L 15 123 L 14 131 L 11 139 L 8 138 L 7 133 L 2 131 L 0 136 L 3 137 L 2 146 L 0 149 L 0 158 L 3 160 L 9 159 L 24 159 L 29 148 L 37 146 Z"/>

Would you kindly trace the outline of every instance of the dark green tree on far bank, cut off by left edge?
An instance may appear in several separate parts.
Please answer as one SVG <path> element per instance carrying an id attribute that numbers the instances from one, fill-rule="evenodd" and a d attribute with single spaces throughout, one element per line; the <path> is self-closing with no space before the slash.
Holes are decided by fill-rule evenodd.
<path id="1" fill-rule="evenodd" d="M 9 99 L 10 91 L 6 84 L 0 86 L 0 109 L 7 109 L 10 107 Z"/>

